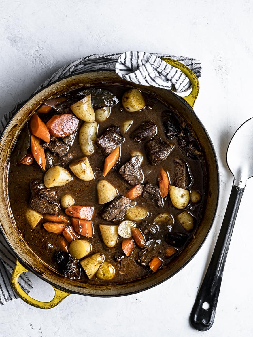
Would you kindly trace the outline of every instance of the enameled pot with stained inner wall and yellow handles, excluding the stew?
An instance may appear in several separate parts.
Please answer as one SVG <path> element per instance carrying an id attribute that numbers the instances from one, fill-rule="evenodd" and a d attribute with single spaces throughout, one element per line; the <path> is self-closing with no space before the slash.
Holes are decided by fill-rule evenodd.
<path id="1" fill-rule="evenodd" d="M 80 283 L 78 281 L 65 278 L 55 272 L 38 256 L 36 256 L 36 254 L 34 254 L 16 227 L 7 194 L 8 158 L 20 131 L 41 102 L 51 97 L 59 96 L 65 92 L 77 89 L 84 85 L 100 84 L 100 86 L 130 86 L 129 82 L 122 80 L 114 71 L 86 72 L 59 80 L 41 90 L 22 106 L 18 113 L 9 122 L 0 141 L 0 172 L 2 172 L 2 179 L 0 181 L 0 228 L 6 241 L 9 243 L 11 249 L 17 256 L 16 267 L 11 276 L 11 285 L 15 292 L 30 305 L 38 308 L 49 309 L 56 306 L 69 294 L 110 297 L 141 292 L 173 276 L 190 261 L 204 242 L 213 222 L 218 203 L 219 175 L 217 159 L 212 142 L 210 141 L 205 128 L 193 111 L 193 104 L 199 91 L 199 83 L 196 76 L 184 64 L 171 59 L 167 59 L 166 61 L 181 69 L 191 80 L 193 88 L 190 95 L 182 98 L 170 90 L 159 89 L 151 86 L 144 87 L 136 84 L 131 84 L 131 86 L 153 94 L 164 104 L 168 105 L 172 110 L 176 111 L 178 115 L 182 116 L 182 118 L 189 124 L 191 131 L 197 137 L 202 148 L 206 163 L 206 197 L 203 216 L 198 228 L 196 229 L 194 239 L 192 239 L 188 246 L 171 261 L 169 268 L 162 268 L 157 273 L 153 273 L 145 278 L 114 285 Z M 52 301 L 40 302 L 34 300 L 22 290 L 19 285 L 18 278 L 26 271 L 31 271 L 41 279 L 52 284 L 55 289 L 55 297 Z"/>

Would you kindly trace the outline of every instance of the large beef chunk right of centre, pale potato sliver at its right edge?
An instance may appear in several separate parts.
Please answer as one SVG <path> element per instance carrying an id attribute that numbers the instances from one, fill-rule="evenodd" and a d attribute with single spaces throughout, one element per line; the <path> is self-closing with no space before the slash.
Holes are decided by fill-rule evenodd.
<path id="1" fill-rule="evenodd" d="M 148 162 L 151 165 L 156 165 L 167 159 L 173 147 L 166 142 L 162 142 L 158 136 L 148 141 L 145 145 Z"/>

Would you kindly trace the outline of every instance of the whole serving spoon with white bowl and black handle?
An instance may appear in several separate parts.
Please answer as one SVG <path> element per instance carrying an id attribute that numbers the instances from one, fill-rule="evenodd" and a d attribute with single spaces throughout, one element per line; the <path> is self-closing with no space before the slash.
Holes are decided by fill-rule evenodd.
<path id="1" fill-rule="evenodd" d="M 214 323 L 236 215 L 246 181 L 253 176 L 253 118 L 248 119 L 235 131 L 228 145 L 226 160 L 234 176 L 233 187 L 214 252 L 190 316 L 192 326 L 199 331 L 210 329 Z"/>

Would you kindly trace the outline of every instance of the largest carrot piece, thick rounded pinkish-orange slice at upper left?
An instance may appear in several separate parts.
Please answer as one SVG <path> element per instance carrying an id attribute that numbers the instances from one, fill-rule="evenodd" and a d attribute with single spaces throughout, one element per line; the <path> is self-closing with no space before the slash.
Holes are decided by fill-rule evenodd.
<path id="1" fill-rule="evenodd" d="M 51 136 L 64 137 L 72 134 L 78 126 L 79 120 L 72 114 L 54 115 L 47 122 Z"/>

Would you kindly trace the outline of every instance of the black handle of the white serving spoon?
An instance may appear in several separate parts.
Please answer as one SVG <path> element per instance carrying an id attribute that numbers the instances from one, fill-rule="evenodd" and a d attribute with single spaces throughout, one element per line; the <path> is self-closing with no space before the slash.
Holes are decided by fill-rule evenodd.
<path id="1" fill-rule="evenodd" d="M 214 323 L 215 312 L 220 293 L 223 270 L 234 228 L 236 215 L 241 203 L 244 188 L 233 186 L 229 197 L 225 216 L 221 225 L 214 252 L 192 308 L 190 320 L 192 326 L 199 331 L 210 329 Z M 203 303 L 207 302 L 204 309 Z"/>

